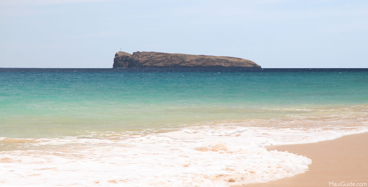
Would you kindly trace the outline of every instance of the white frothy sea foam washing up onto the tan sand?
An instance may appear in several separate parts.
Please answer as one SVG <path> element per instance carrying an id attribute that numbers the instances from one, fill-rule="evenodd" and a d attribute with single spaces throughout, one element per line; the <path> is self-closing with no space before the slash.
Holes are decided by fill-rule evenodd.
<path id="1" fill-rule="evenodd" d="M 236 123 L 239 125 L 239 123 Z M 303 173 L 311 159 L 265 145 L 309 143 L 366 129 L 244 127 L 226 123 L 105 139 L 5 139 L 0 185 L 230 186 Z"/>

